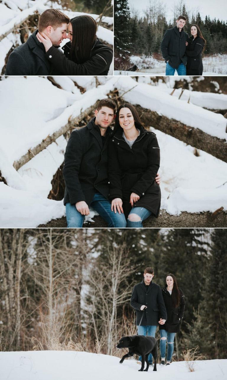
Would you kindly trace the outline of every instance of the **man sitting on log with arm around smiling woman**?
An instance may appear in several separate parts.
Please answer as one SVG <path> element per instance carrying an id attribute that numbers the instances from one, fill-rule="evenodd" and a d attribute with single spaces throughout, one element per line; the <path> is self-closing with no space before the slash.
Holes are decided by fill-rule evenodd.
<path id="1" fill-rule="evenodd" d="M 107 147 L 112 135 L 110 124 L 115 118 L 116 104 L 102 99 L 95 117 L 79 130 L 72 131 L 66 147 L 63 177 L 66 183 L 64 205 L 67 226 L 83 226 L 91 206 L 109 227 L 126 227 L 124 214 L 111 211 L 109 197 Z M 157 177 L 159 183 L 159 177 Z"/>

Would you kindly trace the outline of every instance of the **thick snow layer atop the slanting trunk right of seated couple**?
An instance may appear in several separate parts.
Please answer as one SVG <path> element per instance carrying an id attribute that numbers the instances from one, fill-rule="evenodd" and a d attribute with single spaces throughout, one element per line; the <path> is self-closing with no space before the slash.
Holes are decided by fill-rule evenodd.
<path id="1" fill-rule="evenodd" d="M 207 111 L 189 104 L 187 101 L 178 101 L 171 95 L 163 93 L 158 86 L 149 86 L 145 83 L 135 84 L 132 78 L 122 79 L 119 77 L 117 84 L 122 93 L 130 90 L 124 95 L 124 100 L 129 103 L 139 104 L 144 108 L 156 111 L 159 115 L 179 120 L 188 126 L 199 128 L 211 136 L 227 140 L 225 132 L 227 120 L 221 114 Z M 134 86 L 136 87 L 133 88 Z"/>

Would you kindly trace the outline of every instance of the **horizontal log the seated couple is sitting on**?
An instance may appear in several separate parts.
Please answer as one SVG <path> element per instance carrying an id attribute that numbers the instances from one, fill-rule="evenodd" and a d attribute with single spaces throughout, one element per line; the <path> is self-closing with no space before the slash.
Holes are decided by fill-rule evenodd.
<path id="1" fill-rule="evenodd" d="M 83 224 L 84 228 L 107 227 L 107 223 L 100 217 L 95 216 L 94 222 Z M 158 218 L 149 217 L 143 222 L 144 228 L 226 228 L 227 212 L 219 211 L 217 214 L 211 212 L 190 213 L 183 211 L 180 215 L 170 215 L 166 210 L 160 210 Z M 52 219 L 50 222 L 40 224 L 39 228 L 65 228 L 67 227 L 66 217 Z"/>

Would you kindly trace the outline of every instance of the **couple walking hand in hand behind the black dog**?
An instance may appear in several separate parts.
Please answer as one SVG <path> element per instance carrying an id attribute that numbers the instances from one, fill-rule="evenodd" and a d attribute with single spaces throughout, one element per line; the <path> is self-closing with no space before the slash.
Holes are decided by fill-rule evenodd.
<path id="1" fill-rule="evenodd" d="M 160 330 L 160 354 L 161 363 L 165 365 L 166 341 L 167 360 L 166 365 L 171 363 L 174 351 L 175 333 L 180 332 L 180 320 L 185 311 L 185 298 L 183 291 L 178 288 L 177 280 L 171 273 L 166 275 L 164 288 L 152 282 L 154 270 L 146 268 L 144 279 L 134 286 L 131 306 L 136 310 L 136 325 L 138 335 L 155 337 L 157 325 Z M 152 354 L 148 361 L 152 364 Z M 141 364 L 141 356 L 138 364 Z"/>

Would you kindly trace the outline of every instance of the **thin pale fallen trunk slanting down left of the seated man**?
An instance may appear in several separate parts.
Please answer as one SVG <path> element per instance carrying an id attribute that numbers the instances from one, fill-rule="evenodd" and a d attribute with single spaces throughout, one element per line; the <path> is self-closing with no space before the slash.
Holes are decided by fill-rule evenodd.
<path id="1" fill-rule="evenodd" d="M 36 147 L 33 149 L 29 149 L 26 154 L 19 158 L 19 160 L 14 161 L 14 168 L 18 170 L 21 166 L 25 165 L 28 161 L 31 160 L 34 156 L 36 156 L 39 152 L 45 149 L 47 146 L 52 144 L 58 137 L 64 135 L 70 128 L 73 128 L 75 125 L 78 125 L 81 120 L 83 120 L 86 116 L 91 114 L 91 112 L 95 109 L 95 104 L 91 107 L 85 109 L 85 111 L 81 112 L 81 114 L 74 119 L 69 119 L 69 122 L 61 127 L 58 131 L 54 132 L 52 135 L 48 135 L 45 139 L 43 139 Z"/>

